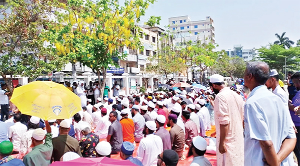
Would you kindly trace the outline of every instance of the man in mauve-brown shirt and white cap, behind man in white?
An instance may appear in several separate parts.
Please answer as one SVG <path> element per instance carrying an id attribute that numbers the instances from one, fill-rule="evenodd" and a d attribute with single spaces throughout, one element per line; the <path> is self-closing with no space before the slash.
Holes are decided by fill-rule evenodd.
<path id="1" fill-rule="evenodd" d="M 163 151 L 171 149 L 170 134 L 163 127 L 165 123 L 165 117 L 163 115 L 158 115 L 155 122 L 157 127 L 155 135 L 161 138 L 163 144 Z"/>

